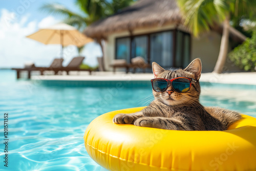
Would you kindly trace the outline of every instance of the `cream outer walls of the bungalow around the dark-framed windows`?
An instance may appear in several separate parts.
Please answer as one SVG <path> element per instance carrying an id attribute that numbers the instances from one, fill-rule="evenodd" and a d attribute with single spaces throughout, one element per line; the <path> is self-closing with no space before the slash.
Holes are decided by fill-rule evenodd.
<path id="1" fill-rule="evenodd" d="M 152 32 L 158 32 L 163 30 L 175 29 L 175 25 L 168 25 L 164 27 L 155 27 L 150 29 L 138 29 L 133 32 L 133 35 L 146 34 Z M 184 27 L 178 29 L 186 31 Z M 105 69 L 112 71 L 110 67 L 112 61 L 115 59 L 115 40 L 117 37 L 129 36 L 128 31 L 114 33 L 107 37 L 104 47 L 105 55 Z M 212 72 L 217 61 L 219 50 L 220 50 L 221 35 L 216 32 L 209 32 L 200 38 L 191 36 L 191 60 L 200 58 L 202 60 L 203 72 Z M 228 72 L 230 71 L 241 71 L 238 67 L 233 66 L 233 63 L 227 60 L 225 68 Z M 117 69 L 122 70 L 122 69 Z M 124 69 L 122 70 L 124 71 Z"/>

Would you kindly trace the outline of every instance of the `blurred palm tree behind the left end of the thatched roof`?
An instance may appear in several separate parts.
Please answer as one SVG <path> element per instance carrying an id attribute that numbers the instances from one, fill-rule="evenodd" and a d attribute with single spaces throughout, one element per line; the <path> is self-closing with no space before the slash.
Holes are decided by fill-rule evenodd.
<path id="1" fill-rule="evenodd" d="M 41 7 L 41 10 L 48 11 L 55 15 L 64 16 L 64 23 L 72 25 L 78 30 L 83 31 L 87 26 L 97 20 L 112 15 L 124 7 L 130 6 L 134 1 L 136 0 L 76 0 L 76 4 L 80 9 L 79 13 L 70 11 L 68 8 L 60 4 L 45 4 Z M 97 39 L 96 41 L 101 47 L 103 54 L 102 63 L 104 63 L 102 39 Z M 78 48 L 79 53 L 82 49 L 83 48 Z"/>

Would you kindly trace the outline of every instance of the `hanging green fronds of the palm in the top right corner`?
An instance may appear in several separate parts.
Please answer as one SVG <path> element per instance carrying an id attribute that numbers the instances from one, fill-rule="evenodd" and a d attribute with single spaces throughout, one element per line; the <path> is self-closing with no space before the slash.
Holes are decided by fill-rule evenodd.
<path id="1" fill-rule="evenodd" d="M 253 18 L 256 14 L 255 0 L 178 0 L 177 3 L 185 24 L 195 36 L 222 23 L 226 17 Z"/>

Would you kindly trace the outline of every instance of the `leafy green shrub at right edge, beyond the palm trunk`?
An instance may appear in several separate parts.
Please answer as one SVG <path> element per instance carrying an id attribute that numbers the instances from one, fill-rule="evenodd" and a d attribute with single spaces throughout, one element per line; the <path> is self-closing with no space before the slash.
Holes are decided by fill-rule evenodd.
<path id="1" fill-rule="evenodd" d="M 243 44 L 234 48 L 228 54 L 231 61 L 245 71 L 254 71 L 256 66 L 256 31 L 251 38 L 247 38 Z"/>

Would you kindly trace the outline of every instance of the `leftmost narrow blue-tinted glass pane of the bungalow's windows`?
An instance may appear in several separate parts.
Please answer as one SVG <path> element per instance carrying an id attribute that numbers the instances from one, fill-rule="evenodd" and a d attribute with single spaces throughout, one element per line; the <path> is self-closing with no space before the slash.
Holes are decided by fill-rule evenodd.
<path id="1" fill-rule="evenodd" d="M 130 37 L 116 39 L 116 59 L 130 61 Z"/>

